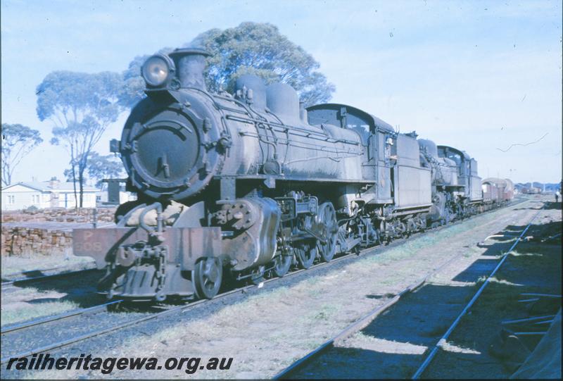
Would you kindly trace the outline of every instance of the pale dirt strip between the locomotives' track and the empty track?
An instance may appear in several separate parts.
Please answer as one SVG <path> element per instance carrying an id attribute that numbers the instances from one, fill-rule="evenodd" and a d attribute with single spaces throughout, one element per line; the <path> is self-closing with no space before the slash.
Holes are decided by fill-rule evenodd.
<path id="1" fill-rule="evenodd" d="M 156 356 L 168 357 L 232 357 L 229 370 L 199 370 L 186 375 L 182 370 L 114 370 L 110 375 L 84 371 L 43 371 L 26 377 L 125 377 L 125 378 L 265 378 L 272 377 L 293 361 L 304 356 L 344 327 L 364 316 L 421 279 L 448 258 L 462 256 L 447 267 L 448 276 L 462 274 L 480 263 L 483 252 L 491 248 L 479 244 L 488 235 L 512 227 L 526 225 L 541 206 L 537 200 L 526 201 L 483 216 L 476 216 L 438 232 L 413 237 L 406 244 L 359 258 L 339 270 L 329 270 L 322 276 L 310 277 L 289 287 L 266 290 L 238 304 L 224 306 L 205 319 L 191 320 L 189 313 L 179 316 L 175 325 L 155 332 L 124 338 L 119 345 L 104 349 L 96 356 Z M 512 231 L 512 230 L 510 230 Z M 495 256 L 500 254 L 495 249 Z M 493 262 L 491 259 L 486 260 Z M 457 276 L 456 275 L 456 276 Z M 442 282 L 436 277 L 434 282 Z M 474 287 L 477 280 L 463 277 L 448 285 L 450 288 Z M 467 287 L 464 287 L 467 286 Z M 434 286 L 437 287 L 437 286 Z M 420 316 L 434 323 L 443 323 L 431 300 Z M 412 311 L 417 314 L 417 311 Z M 379 319 L 378 319 L 379 320 Z M 429 332 L 430 335 L 431 332 Z M 434 332 L 436 333 L 436 332 Z M 395 345 L 395 344 L 393 344 Z M 412 350 L 407 343 L 407 351 Z M 416 350 L 416 349 L 415 349 Z M 418 349 L 419 350 L 419 349 Z M 65 351 L 68 356 L 80 356 L 80 349 Z M 332 365 L 325 365 L 324 368 Z M 374 366 L 374 363 L 367 364 Z M 400 368 L 400 364 L 397 364 Z M 407 373 L 394 373 L 405 377 Z M 308 375 L 309 377 L 311 375 Z M 374 377 L 372 375 L 371 377 Z"/>

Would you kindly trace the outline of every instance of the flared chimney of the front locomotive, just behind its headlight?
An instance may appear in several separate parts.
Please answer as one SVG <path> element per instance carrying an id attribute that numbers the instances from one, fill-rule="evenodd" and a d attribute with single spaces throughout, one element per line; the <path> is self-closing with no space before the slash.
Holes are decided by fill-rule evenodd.
<path id="1" fill-rule="evenodd" d="M 195 87 L 207 91 L 203 70 L 205 69 L 205 57 L 210 54 L 197 48 L 181 48 L 168 54 L 174 60 L 180 87 Z"/>

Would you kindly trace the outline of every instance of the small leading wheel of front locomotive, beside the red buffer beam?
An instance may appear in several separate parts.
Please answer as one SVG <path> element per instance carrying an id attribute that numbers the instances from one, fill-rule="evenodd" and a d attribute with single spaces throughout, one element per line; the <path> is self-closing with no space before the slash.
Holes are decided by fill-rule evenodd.
<path id="1" fill-rule="evenodd" d="M 212 299 L 217 295 L 223 278 L 221 260 L 215 257 L 205 257 L 196 263 L 191 271 L 191 282 L 198 299 Z"/>

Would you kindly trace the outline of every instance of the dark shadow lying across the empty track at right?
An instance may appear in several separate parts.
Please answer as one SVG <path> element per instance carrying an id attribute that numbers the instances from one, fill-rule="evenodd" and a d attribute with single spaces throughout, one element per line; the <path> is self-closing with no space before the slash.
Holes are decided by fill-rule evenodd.
<path id="1" fill-rule="evenodd" d="M 530 230 L 545 231 L 550 225 L 553 224 L 535 225 Z M 521 232 L 525 227 L 514 225 L 505 231 Z M 412 377 L 498 264 L 493 257 L 500 259 L 500 251 L 507 251 L 510 245 L 512 242 L 489 245 L 482 255 L 491 259 L 479 258 L 460 271 L 453 277 L 460 282 L 457 285 L 427 283 L 405 295 L 358 334 L 337 344 L 341 346 L 334 347 L 292 377 Z M 522 292 L 561 293 L 560 246 L 521 242 L 516 251 L 516 255 L 507 258 L 470 313 L 462 318 L 445 351 L 438 351 L 429 367 L 431 373 L 425 373 L 425 377 L 448 378 L 454 373 L 454 377 L 510 376 L 512 372 L 489 354 L 489 346 L 500 332 L 500 321 L 528 316 L 526 308 L 517 302 Z"/>

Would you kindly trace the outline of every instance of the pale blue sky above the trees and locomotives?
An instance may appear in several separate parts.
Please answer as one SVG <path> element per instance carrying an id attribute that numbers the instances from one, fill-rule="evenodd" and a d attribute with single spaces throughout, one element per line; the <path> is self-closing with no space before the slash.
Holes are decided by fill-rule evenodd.
<path id="1" fill-rule="evenodd" d="M 42 132 L 13 180 L 63 177 L 68 157 L 35 113 L 53 70 L 120 72 L 212 27 L 277 25 L 320 62 L 332 101 L 466 150 L 481 177 L 562 177 L 560 1 L 1 1 L 2 123 Z M 126 115 L 96 146 L 108 153 Z M 545 135 L 547 134 L 547 135 Z M 533 142 L 513 146 L 511 144 Z"/>

